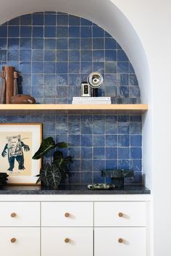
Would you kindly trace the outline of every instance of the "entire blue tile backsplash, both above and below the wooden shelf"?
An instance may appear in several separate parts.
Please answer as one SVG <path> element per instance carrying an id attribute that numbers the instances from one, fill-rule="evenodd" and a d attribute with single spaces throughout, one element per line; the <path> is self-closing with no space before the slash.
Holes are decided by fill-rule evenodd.
<path id="1" fill-rule="evenodd" d="M 104 75 L 101 96 L 140 103 L 138 81 L 120 45 L 96 24 L 56 12 L 22 15 L 0 26 L 0 65 L 20 71 L 20 92 L 39 103 L 71 103 L 89 73 Z M 141 183 L 141 116 L 96 112 L 4 115 L 1 123 L 43 123 L 43 136 L 70 144 L 71 183 L 104 182 L 103 168 L 131 168 Z"/>

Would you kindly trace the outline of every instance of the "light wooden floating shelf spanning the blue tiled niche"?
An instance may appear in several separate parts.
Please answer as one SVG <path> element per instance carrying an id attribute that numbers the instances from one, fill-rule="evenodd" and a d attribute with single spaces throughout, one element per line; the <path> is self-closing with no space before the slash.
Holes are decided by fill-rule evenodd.
<path id="1" fill-rule="evenodd" d="M 147 104 L 0 104 L 1 112 L 33 110 L 111 110 L 142 114 L 148 110 Z"/>

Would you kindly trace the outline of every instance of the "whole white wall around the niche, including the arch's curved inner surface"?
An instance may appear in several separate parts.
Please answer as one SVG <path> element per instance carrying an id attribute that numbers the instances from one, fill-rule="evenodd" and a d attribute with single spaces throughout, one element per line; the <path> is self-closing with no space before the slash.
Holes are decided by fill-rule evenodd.
<path id="1" fill-rule="evenodd" d="M 70 12 L 101 25 L 125 49 L 138 76 L 143 102 L 150 107 L 144 120 L 143 149 L 154 203 L 154 256 L 170 256 L 171 1 L 113 2 L 118 9 L 109 0 L 15 0 L 14 4 L 0 0 L 0 23 L 28 12 Z"/>

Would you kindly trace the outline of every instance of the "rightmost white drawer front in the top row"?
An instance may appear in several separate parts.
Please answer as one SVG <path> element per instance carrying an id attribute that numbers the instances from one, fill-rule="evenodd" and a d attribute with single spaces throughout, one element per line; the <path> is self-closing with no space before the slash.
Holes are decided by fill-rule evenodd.
<path id="1" fill-rule="evenodd" d="M 95 226 L 146 226 L 146 202 L 95 202 Z"/>

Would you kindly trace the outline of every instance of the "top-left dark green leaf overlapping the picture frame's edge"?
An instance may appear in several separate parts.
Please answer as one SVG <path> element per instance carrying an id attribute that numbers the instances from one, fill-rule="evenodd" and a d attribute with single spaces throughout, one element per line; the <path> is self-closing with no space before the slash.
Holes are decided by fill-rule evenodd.
<path id="1" fill-rule="evenodd" d="M 54 142 L 54 139 L 51 137 L 48 137 L 46 139 L 43 139 L 41 142 L 41 146 L 39 147 L 38 151 L 33 155 L 33 159 L 40 159 L 45 154 L 47 154 L 51 149 L 54 149 L 56 147 L 56 144 Z"/>

